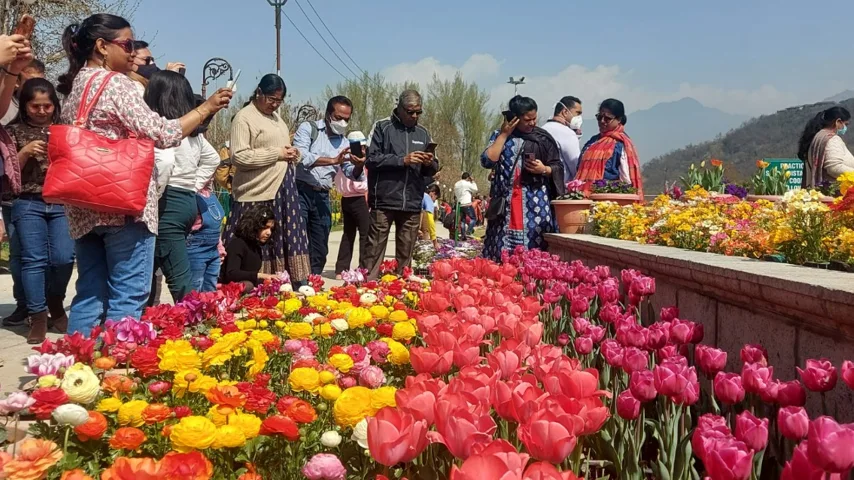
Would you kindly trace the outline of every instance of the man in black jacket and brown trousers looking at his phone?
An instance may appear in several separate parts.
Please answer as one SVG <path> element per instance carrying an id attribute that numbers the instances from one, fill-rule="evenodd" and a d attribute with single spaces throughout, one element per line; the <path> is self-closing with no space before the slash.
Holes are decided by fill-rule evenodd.
<path id="1" fill-rule="evenodd" d="M 425 150 L 432 142 L 427 130 L 418 125 L 421 95 L 415 90 L 400 94 L 391 117 L 374 124 L 369 136 L 368 206 L 371 229 L 368 234 L 368 278 L 379 276 L 385 258 L 388 235 L 394 224 L 397 273 L 412 261 L 421 221 L 421 201 L 427 178 L 436 174 L 439 162 Z"/>

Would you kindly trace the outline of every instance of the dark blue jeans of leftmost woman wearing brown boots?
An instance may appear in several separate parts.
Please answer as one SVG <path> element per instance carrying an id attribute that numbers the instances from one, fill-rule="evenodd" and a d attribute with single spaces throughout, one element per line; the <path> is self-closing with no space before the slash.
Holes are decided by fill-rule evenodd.
<path id="1" fill-rule="evenodd" d="M 65 298 L 74 271 L 74 243 L 65 207 L 25 196 L 12 204 L 20 243 L 21 280 L 30 313 L 47 310 L 47 297 Z"/>

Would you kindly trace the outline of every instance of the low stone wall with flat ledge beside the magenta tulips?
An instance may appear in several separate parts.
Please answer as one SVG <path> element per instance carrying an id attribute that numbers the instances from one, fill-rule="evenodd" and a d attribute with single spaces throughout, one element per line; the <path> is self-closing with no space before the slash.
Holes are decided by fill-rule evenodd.
<path id="1" fill-rule="evenodd" d="M 854 274 L 591 235 L 547 237 L 549 250 L 566 261 L 655 277 L 645 321 L 657 319 L 662 306 L 678 306 L 681 318 L 704 325 L 704 343 L 728 352 L 730 371 L 740 369 L 746 343 L 768 349 L 781 380 L 798 378 L 795 367 L 810 358 L 827 358 L 837 370 L 843 360 L 854 361 Z M 841 378 L 827 402 L 828 414 L 854 422 L 854 393 Z M 808 392 L 807 408 L 813 417 L 821 415 L 819 394 Z"/>

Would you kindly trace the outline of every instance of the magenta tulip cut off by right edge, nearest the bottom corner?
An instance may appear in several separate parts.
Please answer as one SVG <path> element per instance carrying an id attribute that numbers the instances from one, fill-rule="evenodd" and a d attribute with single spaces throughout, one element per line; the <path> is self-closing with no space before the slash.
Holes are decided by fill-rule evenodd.
<path id="1" fill-rule="evenodd" d="M 830 473 L 845 473 L 854 468 L 854 429 L 840 425 L 830 417 L 810 423 L 807 435 L 810 463 Z"/>

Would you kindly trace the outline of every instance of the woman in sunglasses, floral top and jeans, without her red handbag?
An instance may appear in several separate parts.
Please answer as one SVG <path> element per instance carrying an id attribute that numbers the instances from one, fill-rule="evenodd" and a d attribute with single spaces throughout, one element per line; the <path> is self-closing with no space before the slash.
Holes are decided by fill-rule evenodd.
<path id="1" fill-rule="evenodd" d="M 63 123 L 74 123 L 82 102 L 91 101 L 108 78 L 85 128 L 100 136 L 150 139 L 157 148 L 174 148 L 205 119 L 228 106 L 231 89 L 221 89 L 178 119 L 166 119 L 145 104 L 127 73 L 133 70 L 134 38 L 124 18 L 92 15 L 70 25 L 62 35 L 68 72 L 57 91 L 65 95 Z M 83 93 L 92 80 L 91 92 Z M 157 234 L 156 169 L 151 172 L 145 210 L 139 217 L 66 207 L 77 254 L 77 295 L 71 303 L 69 332 L 88 335 L 104 319 L 139 317 L 151 290 Z"/>

